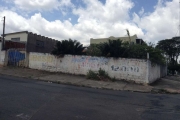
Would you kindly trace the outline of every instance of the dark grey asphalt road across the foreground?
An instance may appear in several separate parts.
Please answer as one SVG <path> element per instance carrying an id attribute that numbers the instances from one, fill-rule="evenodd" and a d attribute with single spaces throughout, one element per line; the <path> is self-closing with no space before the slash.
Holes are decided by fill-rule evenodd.
<path id="1" fill-rule="evenodd" d="M 0 75 L 0 120 L 179 120 L 180 95 L 100 90 Z"/>

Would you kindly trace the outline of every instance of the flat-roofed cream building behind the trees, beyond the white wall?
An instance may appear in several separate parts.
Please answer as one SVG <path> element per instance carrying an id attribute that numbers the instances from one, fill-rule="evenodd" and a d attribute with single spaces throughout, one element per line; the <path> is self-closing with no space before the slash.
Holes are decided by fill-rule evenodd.
<path id="1" fill-rule="evenodd" d="M 90 39 L 90 44 L 100 44 L 104 42 L 108 42 L 108 40 L 122 40 L 123 42 L 131 42 L 132 44 L 142 44 L 144 41 L 142 39 L 138 39 L 137 35 L 133 35 L 130 37 L 113 37 L 110 36 L 109 38 L 96 38 Z"/>

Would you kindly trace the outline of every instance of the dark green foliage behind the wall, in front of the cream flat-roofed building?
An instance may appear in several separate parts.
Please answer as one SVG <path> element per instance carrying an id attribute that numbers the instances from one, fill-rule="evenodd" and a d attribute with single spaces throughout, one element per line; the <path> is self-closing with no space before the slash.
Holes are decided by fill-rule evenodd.
<path id="1" fill-rule="evenodd" d="M 147 59 L 147 53 L 149 53 L 149 59 L 152 62 L 158 64 L 165 64 L 165 57 L 163 56 L 162 51 L 160 49 L 155 48 L 155 46 L 152 44 L 129 44 L 128 42 L 122 42 L 118 39 L 109 40 L 108 42 L 101 43 L 98 45 L 91 45 L 88 48 L 88 51 L 92 51 L 88 52 L 88 55 L 92 56 L 104 56 L 115 58 L 121 57 L 135 59 Z"/>

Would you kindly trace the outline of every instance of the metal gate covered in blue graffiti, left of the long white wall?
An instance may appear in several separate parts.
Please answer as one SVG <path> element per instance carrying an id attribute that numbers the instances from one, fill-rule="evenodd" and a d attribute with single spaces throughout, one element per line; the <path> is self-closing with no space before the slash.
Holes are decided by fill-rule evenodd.
<path id="1" fill-rule="evenodd" d="M 8 65 L 25 66 L 25 53 L 17 49 L 8 50 Z"/>

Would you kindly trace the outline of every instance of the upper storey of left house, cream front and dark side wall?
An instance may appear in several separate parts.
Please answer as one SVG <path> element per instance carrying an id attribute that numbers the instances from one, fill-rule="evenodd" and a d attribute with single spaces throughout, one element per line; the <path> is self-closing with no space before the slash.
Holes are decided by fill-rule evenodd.
<path id="1" fill-rule="evenodd" d="M 7 33 L 5 34 L 5 49 L 18 48 L 17 46 L 21 46 L 20 48 L 22 48 L 23 45 L 20 44 L 25 44 L 26 52 L 50 53 L 56 41 L 28 31 Z M 12 44 L 14 45 L 12 46 Z"/>

